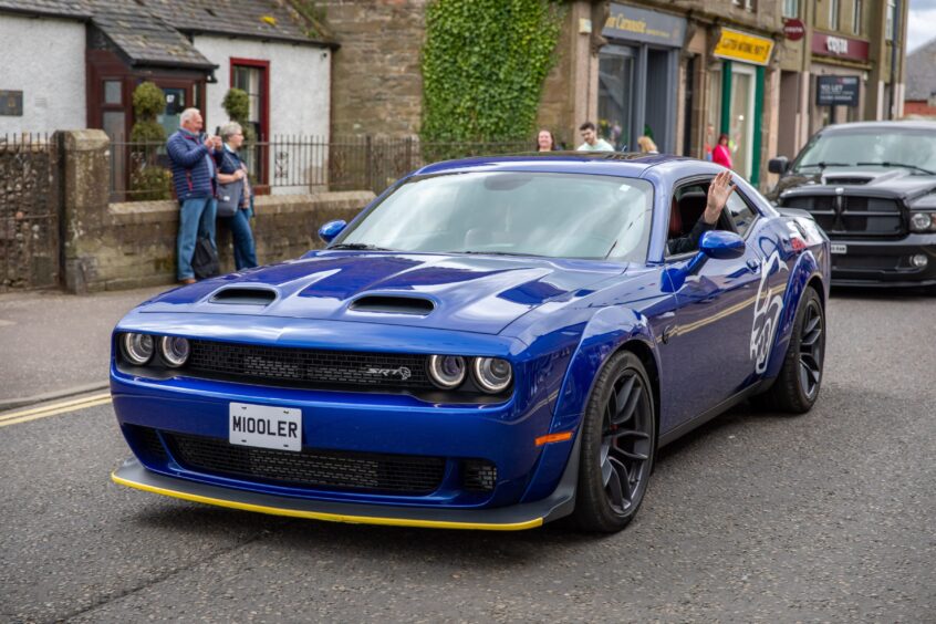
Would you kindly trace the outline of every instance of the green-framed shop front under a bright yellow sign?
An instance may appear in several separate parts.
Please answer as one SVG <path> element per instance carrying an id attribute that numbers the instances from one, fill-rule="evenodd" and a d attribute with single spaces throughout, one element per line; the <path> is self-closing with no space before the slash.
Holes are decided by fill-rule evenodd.
<path id="1" fill-rule="evenodd" d="M 721 28 L 713 51 L 720 62 L 708 83 L 707 122 L 728 135 L 732 169 L 755 186 L 760 183 L 766 67 L 772 52 L 772 39 Z"/>

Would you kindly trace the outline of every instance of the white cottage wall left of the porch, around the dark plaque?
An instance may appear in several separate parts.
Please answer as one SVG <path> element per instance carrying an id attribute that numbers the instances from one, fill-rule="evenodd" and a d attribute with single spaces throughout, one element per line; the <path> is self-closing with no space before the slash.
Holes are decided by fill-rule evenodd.
<path id="1" fill-rule="evenodd" d="M 0 15 L 0 91 L 23 92 L 23 115 L 0 115 L 0 137 L 86 127 L 84 48 L 82 22 Z"/>

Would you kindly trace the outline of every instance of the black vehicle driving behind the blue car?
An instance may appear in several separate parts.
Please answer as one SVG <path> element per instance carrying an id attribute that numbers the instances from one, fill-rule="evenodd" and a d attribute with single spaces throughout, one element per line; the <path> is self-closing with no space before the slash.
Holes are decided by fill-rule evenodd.
<path id="1" fill-rule="evenodd" d="M 829 235 L 833 284 L 936 291 L 936 123 L 828 126 L 769 169 L 781 177 L 768 198 Z"/>

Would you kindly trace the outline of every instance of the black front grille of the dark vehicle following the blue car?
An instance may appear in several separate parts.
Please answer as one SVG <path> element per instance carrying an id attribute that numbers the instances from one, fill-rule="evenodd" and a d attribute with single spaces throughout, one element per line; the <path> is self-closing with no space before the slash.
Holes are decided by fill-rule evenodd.
<path id="1" fill-rule="evenodd" d="M 904 216 L 894 199 L 847 195 L 788 197 L 788 208 L 812 214 L 829 238 L 896 238 L 904 236 Z"/>

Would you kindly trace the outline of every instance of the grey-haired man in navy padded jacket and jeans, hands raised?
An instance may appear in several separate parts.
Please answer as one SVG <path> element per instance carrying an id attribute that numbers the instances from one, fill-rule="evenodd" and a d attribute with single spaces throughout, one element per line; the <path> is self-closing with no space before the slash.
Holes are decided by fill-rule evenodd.
<path id="1" fill-rule="evenodd" d="M 173 185 L 179 200 L 179 235 L 176 242 L 179 282 L 195 283 L 191 258 L 198 237 L 207 237 L 215 245 L 215 216 L 218 205 L 217 163 L 221 155 L 221 138 L 205 137 L 204 121 L 198 108 L 186 108 L 179 117 L 179 129 L 166 143 L 173 163 Z"/>

